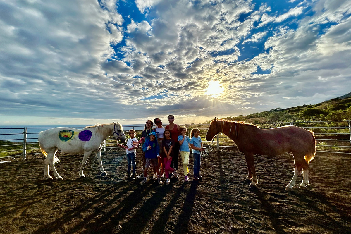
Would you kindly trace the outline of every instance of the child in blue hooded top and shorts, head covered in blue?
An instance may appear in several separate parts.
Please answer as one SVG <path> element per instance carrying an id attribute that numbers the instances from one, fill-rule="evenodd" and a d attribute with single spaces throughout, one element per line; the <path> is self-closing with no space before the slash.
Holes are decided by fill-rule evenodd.
<path id="1" fill-rule="evenodd" d="M 145 170 L 144 180 L 141 181 L 141 185 L 147 182 L 147 169 L 152 165 L 154 173 L 157 174 L 158 183 L 161 184 L 160 168 L 158 167 L 158 158 L 160 157 L 160 147 L 158 146 L 157 136 L 155 132 L 150 133 L 145 138 L 143 145 L 143 151 L 145 152 Z"/>

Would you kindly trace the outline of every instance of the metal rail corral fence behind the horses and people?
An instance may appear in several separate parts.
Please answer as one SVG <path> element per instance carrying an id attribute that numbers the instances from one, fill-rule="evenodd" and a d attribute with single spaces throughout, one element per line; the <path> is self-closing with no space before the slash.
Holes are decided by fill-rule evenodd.
<path id="1" fill-rule="evenodd" d="M 279 127 L 284 125 L 295 125 L 314 132 L 317 141 L 317 152 L 351 154 L 351 120 L 339 121 L 304 121 L 304 122 L 269 122 L 254 123 L 262 129 Z M 203 144 L 210 150 L 223 150 L 224 148 L 236 148 L 235 143 L 224 134 L 218 134 L 213 141 L 206 141 L 205 134 L 209 124 L 186 124 L 181 125 L 188 129 L 189 135 L 192 128 L 199 128 L 203 139 Z M 128 131 L 133 129 L 142 129 L 144 125 L 128 125 L 125 133 L 128 137 Z M 82 127 L 75 127 L 82 129 Z M 0 140 L 0 158 L 21 157 L 26 159 L 27 155 L 41 154 L 38 145 L 38 134 L 40 131 L 49 129 L 48 127 L 24 127 L 24 128 L 0 128 L 0 136 L 9 139 Z M 8 133 L 8 132 L 12 133 Z M 136 137 L 140 138 L 143 130 L 135 130 Z M 19 142 L 18 142 L 19 141 Z M 114 138 L 108 138 L 104 142 L 103 151 L 110 151 L 117 146 Z"/>

